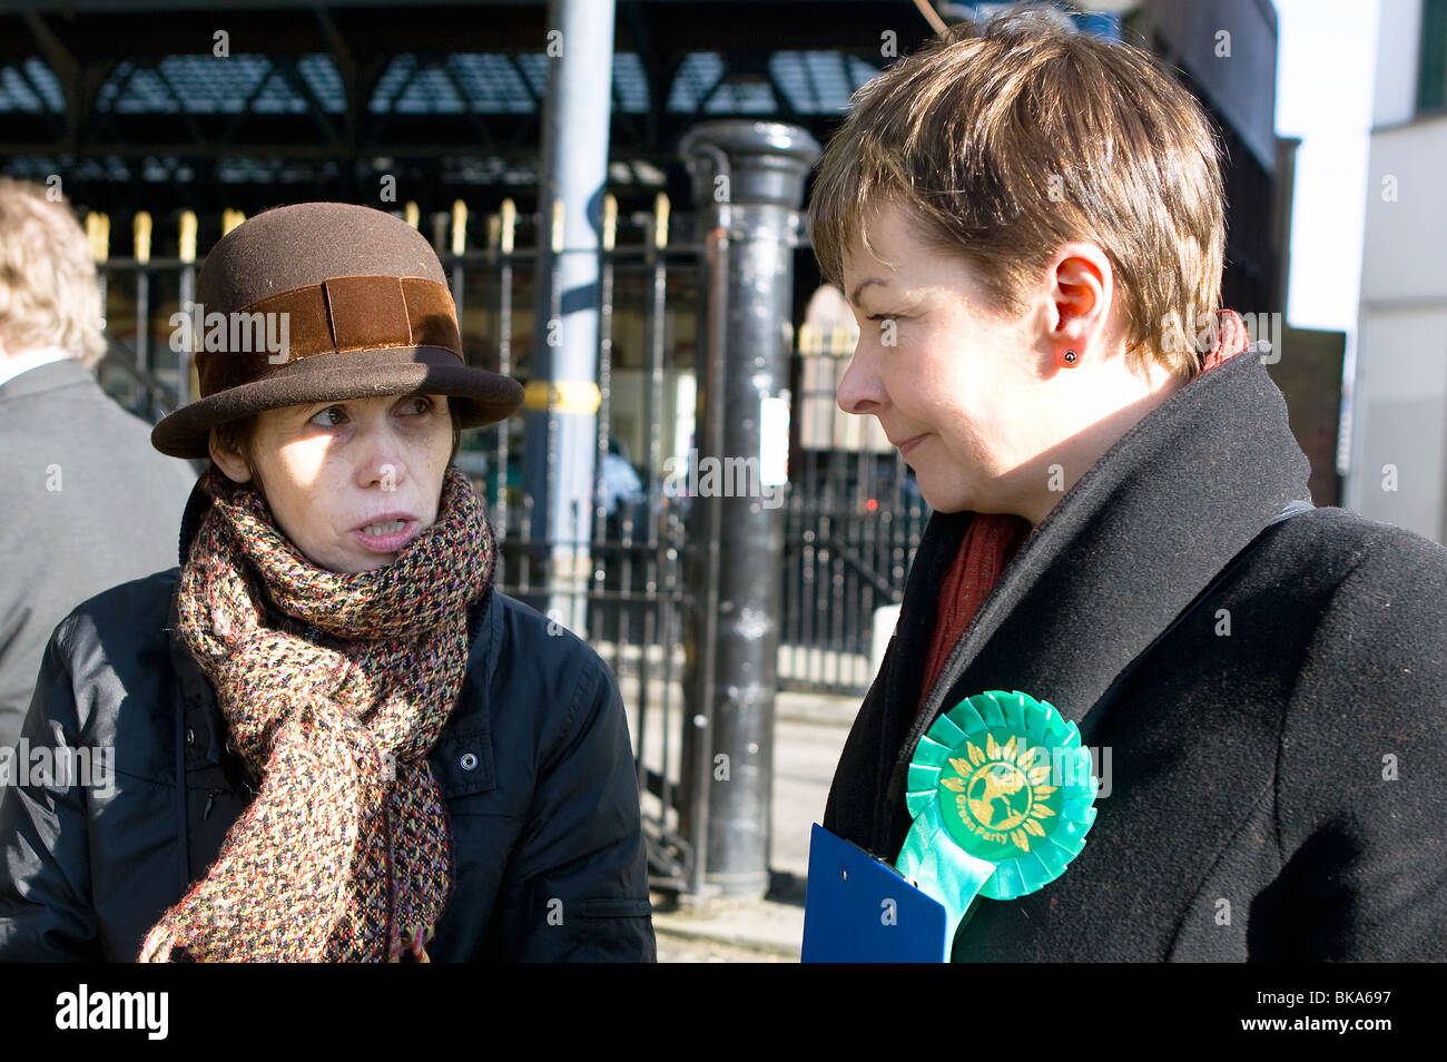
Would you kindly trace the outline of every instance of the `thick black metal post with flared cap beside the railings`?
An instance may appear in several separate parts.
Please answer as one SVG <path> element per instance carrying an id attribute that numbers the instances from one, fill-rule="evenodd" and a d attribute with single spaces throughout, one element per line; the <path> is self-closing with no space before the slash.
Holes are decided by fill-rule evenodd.
<path id="1" fill-rule="evenodd" d="M 726 896 L 768 890 L 768 836 L 789 450 L 793 253 L 819 145 L 773 122 L 709 122 L 683 139 L 709 243 L 697 447 L 700 561 L 690 586 L 689 791 L 703 878 Z M 697 806 L 699 800 L 695 800 Z M 700 829 L 702 828 L 702 829 Z"/>

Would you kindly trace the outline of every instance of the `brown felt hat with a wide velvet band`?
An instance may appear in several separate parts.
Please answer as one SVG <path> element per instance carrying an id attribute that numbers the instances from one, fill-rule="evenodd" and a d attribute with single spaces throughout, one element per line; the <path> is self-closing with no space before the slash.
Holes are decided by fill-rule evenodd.
<path id="1" fill-rule="evenodd" d="M 405 221 L 347 203 L 298 203 L 221 239 L 195 284 L 201 398 L 150 444 L 205 457 L 214 425 L 344 398 L 447 395 L 475 428 L 506 420 L 522 386 L 463 362 L 441 262 Z"/>

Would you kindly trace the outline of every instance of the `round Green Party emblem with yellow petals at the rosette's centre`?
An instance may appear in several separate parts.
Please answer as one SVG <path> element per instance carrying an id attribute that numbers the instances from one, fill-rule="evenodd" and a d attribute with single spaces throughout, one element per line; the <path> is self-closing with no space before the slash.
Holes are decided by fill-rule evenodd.
<path id="1" fill-rule="evenodd" d="M 998 858 L 1010 845 L 1029 852 L 1032 838 L 1046 835 L 1042 822 L 1059 813 L 1059 790 L 1048 784 L 1051 751 L 1009 731 L 984 738 L 984 748 L 967 741 L 951 749 L 941 771 L 941 804 L 955 812 L 943 816 L 945 828 L 981 858 Z"/>

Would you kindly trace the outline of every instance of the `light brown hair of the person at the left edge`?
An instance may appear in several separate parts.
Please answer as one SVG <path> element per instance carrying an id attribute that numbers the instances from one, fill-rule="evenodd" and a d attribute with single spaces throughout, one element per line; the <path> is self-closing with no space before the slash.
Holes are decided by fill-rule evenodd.
<path id="1" fill-rule="evenodd" d="M 0 177 L 0 339 L 14 352 L 106 353 L 90 242 L 58 188 Z"/>

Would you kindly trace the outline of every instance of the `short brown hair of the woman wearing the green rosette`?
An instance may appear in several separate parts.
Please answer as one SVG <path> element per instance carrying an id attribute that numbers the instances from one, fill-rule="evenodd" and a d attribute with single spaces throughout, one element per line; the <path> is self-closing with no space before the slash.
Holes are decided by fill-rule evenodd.
<path id="1" fill-rule="evenodd" d="M 1146 52 L 1020 6 L 964 23 L 864 84 L 819 163 L 809 229 L 823 275 L 884 203 L 962 256 L 1019 317 L 1061 245 L 1110 259 L 1126 347 L 1200 370 L 1187 336 L 1221 301 L 1224 191 L 1210 119 Z M 1178 315 L 1172 318 L 1171 315 Z"/>

